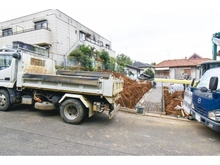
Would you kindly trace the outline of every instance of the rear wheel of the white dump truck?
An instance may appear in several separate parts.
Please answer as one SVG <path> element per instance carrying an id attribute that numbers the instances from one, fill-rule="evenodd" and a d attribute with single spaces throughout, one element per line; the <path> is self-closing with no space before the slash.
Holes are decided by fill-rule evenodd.
<path id="1" fill-rule="evenodd" d="M 68 99 L 60 106 L 60 115 L 63 120 L 70 124 L 78 124 L 84 117 L 84 107 L 80 101 Z"/>

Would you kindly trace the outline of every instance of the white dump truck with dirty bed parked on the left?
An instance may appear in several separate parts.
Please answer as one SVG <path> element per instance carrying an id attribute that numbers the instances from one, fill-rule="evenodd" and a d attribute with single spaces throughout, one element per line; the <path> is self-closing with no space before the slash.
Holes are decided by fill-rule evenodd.
<path id="1" fill-rule="evenodd" d="M 123 83 L 107 72 L 57 71 L 53 59 L 27 49 L 0 50 L 0 111 L 28 104 L 59 109 L 70 124 L 104 111 L 111 119 L 120 107 Z"/>

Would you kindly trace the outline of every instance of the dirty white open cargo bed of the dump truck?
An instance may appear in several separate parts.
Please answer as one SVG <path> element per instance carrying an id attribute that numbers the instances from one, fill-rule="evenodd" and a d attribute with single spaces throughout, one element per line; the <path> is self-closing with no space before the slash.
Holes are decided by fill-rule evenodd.
<path id="1" fill-rule="evenodd" d="M 111 77 L 111 73 L 71 73 L 68 71 L 66 73 L 68 75 L 25 73 L 22 76 L 21 88 L 100 95 L 108 98 L 118 97 L 118 94 L 123 90 L 123 80 Z"/>

